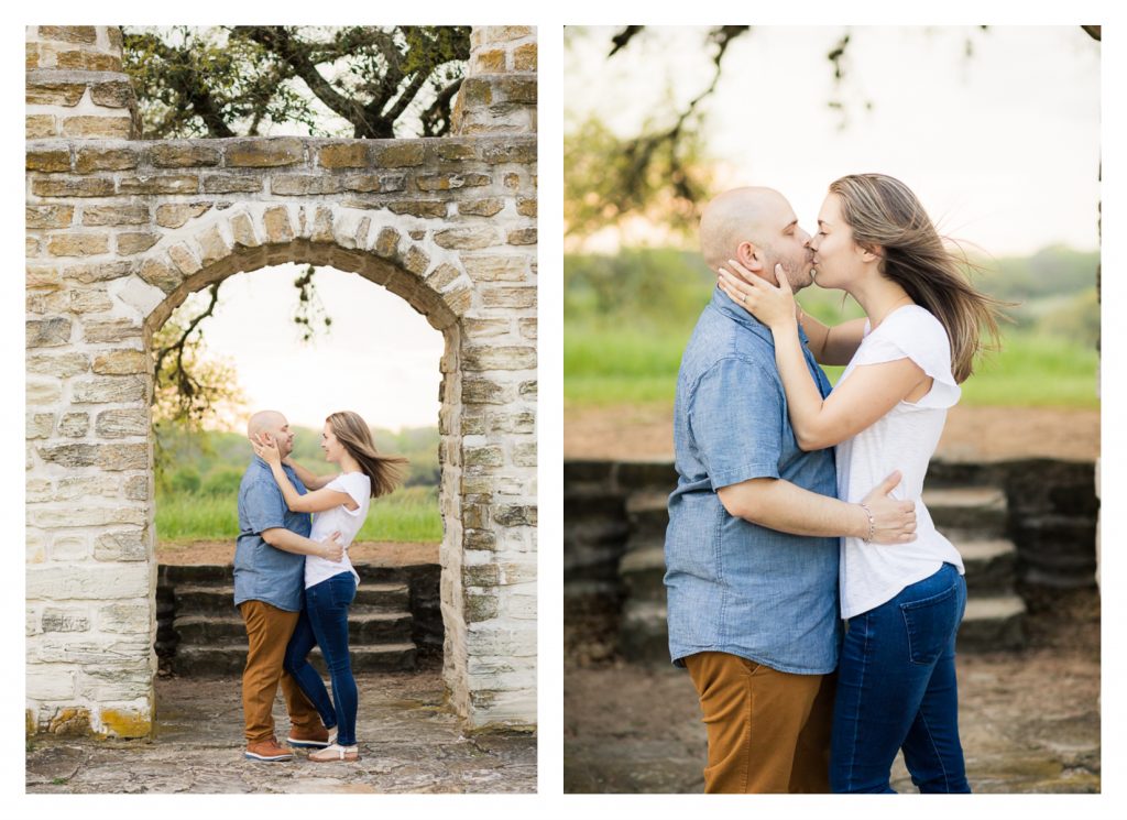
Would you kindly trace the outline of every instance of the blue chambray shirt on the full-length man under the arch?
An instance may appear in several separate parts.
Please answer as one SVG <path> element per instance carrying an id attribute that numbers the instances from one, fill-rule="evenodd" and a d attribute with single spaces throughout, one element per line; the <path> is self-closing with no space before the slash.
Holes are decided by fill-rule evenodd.
<path id="1" fill-rule="evenodd" d="M 293 470 L 285 474 L 305 494 L 305 485 Z M 287 612 L 301 610 L 305 587 L 305 556 L 275 549 L 263 541 L 263 532 L 284 527 L 309 537 L 309 512 L 291 512 L 269 465 L 255 456 L 239 484 L 239 541 L 234 547 L 234 605 L 264 600 Z"/>

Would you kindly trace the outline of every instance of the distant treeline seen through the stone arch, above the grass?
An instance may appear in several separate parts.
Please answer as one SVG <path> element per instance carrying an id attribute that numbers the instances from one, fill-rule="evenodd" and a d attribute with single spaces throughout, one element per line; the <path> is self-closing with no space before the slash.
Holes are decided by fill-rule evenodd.
<path id="1" fill-rule="evenodd" d="M 293 457 L 314 473 L 330 473 L 336 465 L 325 461 L 321 431 L 294 428 Z M 437 487 L 438 428 L 412 427 L 399 433 L 373 429 L 381 453 L 401 455 L 410 461 L 405 487 Z M 250 442 L 239 433 L 187 433 L 180 428 L 157 429 L 160 451 L 158 481 L 162 491 L 203 496 L 229 496 L 238 492 L 239 481 L 254 456 Z"/>

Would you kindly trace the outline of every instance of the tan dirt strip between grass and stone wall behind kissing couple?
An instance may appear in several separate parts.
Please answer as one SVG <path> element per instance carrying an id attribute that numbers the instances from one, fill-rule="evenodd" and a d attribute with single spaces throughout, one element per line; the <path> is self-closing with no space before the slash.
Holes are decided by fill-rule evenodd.
<path id="1" fill-rule="evenodd" d="M 937 456 L 944 461 L 1065 458 L 1100 454 L 1100 411 L 951 408 Z M 673 408 L 665 404 L 568 409 L 565 458 L 671 458 Z"/>

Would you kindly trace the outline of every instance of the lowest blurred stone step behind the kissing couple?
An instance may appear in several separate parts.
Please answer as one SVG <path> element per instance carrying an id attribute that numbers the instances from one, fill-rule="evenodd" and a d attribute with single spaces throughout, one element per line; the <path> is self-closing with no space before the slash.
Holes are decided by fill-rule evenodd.
<path id="1" fill-rule="evenodd" d="M 959 626 L 959 652 L 1020 649 L 1026 605 L 1015 595 L 970 598 Z M 632 663 L 668 663 L 669 633 L 665 603 L 628 600 L 619 622 L 619 652 Z"/>

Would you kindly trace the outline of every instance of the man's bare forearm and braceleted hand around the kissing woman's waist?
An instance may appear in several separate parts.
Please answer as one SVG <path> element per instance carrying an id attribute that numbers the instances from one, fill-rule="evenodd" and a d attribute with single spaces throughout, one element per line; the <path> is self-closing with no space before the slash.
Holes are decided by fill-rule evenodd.
<path id="1" fill-rule="evenodd" d="M 899 481 L 899 473 L 893 473 L 861 502 L 872 512 L 875 543 L 915 540 L 915 505 L 888 494 Z M 769 529 L 792 535 L 869 537 L 869 515 L 860 503 L 819 496 L 782 479 L 749 479 L 721 487 L 717 494 L 729 515 Z"/>

